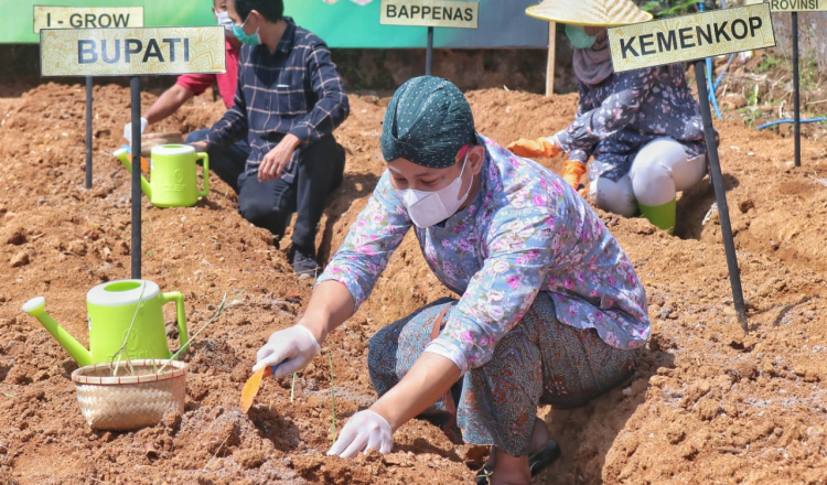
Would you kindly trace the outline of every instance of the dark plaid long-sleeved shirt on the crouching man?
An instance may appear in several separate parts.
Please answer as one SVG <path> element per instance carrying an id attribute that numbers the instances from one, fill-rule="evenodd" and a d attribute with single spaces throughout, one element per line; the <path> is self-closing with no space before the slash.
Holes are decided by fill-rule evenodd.
<path id="1" fill-rule="evenodd" d="M 275 53 L 266 45 L 245 45 L 238 57 L 235 106 L 206 138 L 211 148 L 229 147 L 247 136 L 247 172 L 256 172 L 265 154 L 287 133 L 301 140 L 282 172 L 292 182 L 301 149 L 319 141 L 347 118 L 342 76 L 327 45 L 286 17 L 287 29 Z"/>

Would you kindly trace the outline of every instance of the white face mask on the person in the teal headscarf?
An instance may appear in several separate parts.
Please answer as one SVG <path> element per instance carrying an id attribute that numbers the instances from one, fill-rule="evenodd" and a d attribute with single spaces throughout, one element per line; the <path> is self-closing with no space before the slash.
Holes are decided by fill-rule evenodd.
<path id="1" fill-rule="evenodd" d="M 460 188 L 462 187 L 462 173 L 465 171 L 465 162 L 470 152 L 470 149 L 465 152 L 460 176 L 448 186 L 436 192 L 415 191 L 412 188 L 399 191 L 399 195 L 402 196 L 402 204 L 405 204 L 410 219 L 417 227 L 425 229 L 445 220 L 457 214 L 457 211 L 465 202 L 471 193 L 471 183 L 468 184 L 468 191 L 462 197 L 460 197 Z"/>

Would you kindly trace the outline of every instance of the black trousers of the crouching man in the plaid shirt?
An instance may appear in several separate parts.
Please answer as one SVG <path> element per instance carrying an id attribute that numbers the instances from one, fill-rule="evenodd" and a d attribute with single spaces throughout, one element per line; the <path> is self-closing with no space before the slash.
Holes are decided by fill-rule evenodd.
<path id="1" fill-rule="evenodd" d="M 315 234 L 327 196 L 342 184 L 345 151 L 332 134 L 299 149 L 292 182 L 259 182 L 257 172 L 238 176 L 238 212 L 277 238 L 297 213 L 292 242 L 315 248 Z"/>

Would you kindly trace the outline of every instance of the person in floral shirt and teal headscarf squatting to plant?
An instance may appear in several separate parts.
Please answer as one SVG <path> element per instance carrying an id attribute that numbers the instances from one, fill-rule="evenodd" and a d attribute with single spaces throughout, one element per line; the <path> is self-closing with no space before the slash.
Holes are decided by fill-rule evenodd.
<path id="1" fill-rule="evenodd" d="M 538 405 L 580 406 L 634 373 L 649 335 L 644 289 L 589 205 L 479 136 L 448 80 L 417 77 L 396 91 L 382 152 L 388 170 L 307 311 L 270 336 L 254 369 L 280 364 L 283 376 L 310 363 L 414 226 L 431 270 L 461 298 L 370 338 L 380 398 L 348 420 L 329 454 L 388 453 L 394 431 L 421 416 L 453 439 L 462 429 L 465 442 L 493 445 L 481 472 L 491 483 L 527 484 L 559 454 Z"/>

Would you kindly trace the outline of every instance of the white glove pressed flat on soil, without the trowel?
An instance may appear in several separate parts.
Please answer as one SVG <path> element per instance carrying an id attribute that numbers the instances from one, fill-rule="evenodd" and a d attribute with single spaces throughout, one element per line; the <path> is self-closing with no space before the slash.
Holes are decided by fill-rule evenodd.
<path id="1" fill-rule="evenodd" d="M 393 445 L 394 431 L 390 424 L 382 416 L 366 409 L 351 417 L 327 454 L 343 459 L 352 459 L 356 453 L 367 453 L 368 450 L 388 454 Z"/>

